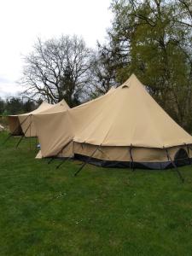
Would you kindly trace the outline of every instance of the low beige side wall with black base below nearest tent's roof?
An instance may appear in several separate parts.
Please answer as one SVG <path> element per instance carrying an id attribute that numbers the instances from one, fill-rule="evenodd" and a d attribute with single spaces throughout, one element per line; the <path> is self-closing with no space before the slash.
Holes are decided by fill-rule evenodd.
<path id="1" fill-rule="evenodd" d="M 90 144 L 74 143 L 73 151 L 79 160 L 89 160 L 91 164 L 105 167 L 135 167 L 149 169 L 171 168 L 172 160 L 177 166 L 192 164 L 192 150 L 187 146 L 167 148 L 172 160 L 168 160 L 166 148 L 131 148 L 130 147 L 100 147 Z M 184 158 L 176 159 L 179 149 L 186 152 Z M 95 154 L 93 154 L 96 151 Z M 189 153 L 189 154 L 188 154 Z M 93 154 L 93 155 L 92 155 Z M 90 155 L 92 157 L 89 159 Z M 131 159 L 132 157 L 132 159 Z"/>

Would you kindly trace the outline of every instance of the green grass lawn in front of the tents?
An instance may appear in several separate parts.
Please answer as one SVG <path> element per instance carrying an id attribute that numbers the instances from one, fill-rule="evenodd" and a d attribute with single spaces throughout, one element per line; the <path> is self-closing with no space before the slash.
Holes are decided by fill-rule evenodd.
<path id="1" fill-rule="evenodd" d="M 107 169 L 35 160 L 0 134 L 0 255 L 191 255 L 192 166 Z M 32 142 L 34 148 L 34 141 Z"/>

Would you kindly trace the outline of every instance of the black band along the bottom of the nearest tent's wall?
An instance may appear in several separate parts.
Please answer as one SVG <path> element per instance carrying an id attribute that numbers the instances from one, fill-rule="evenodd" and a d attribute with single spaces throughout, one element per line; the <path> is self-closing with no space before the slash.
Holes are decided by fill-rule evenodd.
<path id="1" fill-rule="evenodd" d="M 88 161 L 89 164 L 94 166 L 100 167 L 108 167 L 108 168 L 130 168 L 131 162 L 130 161 L 113 161 L 113 160 L 99 160 L 96 158 L 90 158 L 88 160 L 88 156 L 82 154 L 75 154 L 74 159 L 81 160 L 81 161 Z M 192 158 L 177 160 L 175 161 L 176 166 L 192 166 Z M 149 169 L 149 170 L 165 170 L 165 169 L 172 169 L 172 161 L 165 161 L 165 162 L 135 162 L 134 161 L 134 168 L 137 169 Z"/>

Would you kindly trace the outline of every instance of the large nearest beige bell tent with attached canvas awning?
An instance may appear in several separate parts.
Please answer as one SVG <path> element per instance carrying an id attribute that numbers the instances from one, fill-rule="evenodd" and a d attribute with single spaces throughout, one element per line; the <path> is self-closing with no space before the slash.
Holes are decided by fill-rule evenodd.
<path id="1" fill-rule="evenodd" d="M 35 114 L 42 157 L 152 169 L 190 164 L 192 137 L 135 75 L 105 96 L 60 113 Z"/>

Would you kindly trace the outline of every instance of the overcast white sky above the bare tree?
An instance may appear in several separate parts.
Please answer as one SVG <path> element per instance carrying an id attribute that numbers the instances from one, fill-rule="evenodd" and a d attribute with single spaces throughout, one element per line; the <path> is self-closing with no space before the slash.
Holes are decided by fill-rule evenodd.
<path id="1" fill-rule="evenodd" d="M 110 0 L 0 0 L 0 97 L 20 91 L 22 55 L 38 37 L 82 36 L 90 47 L 107 36 Z"/>

